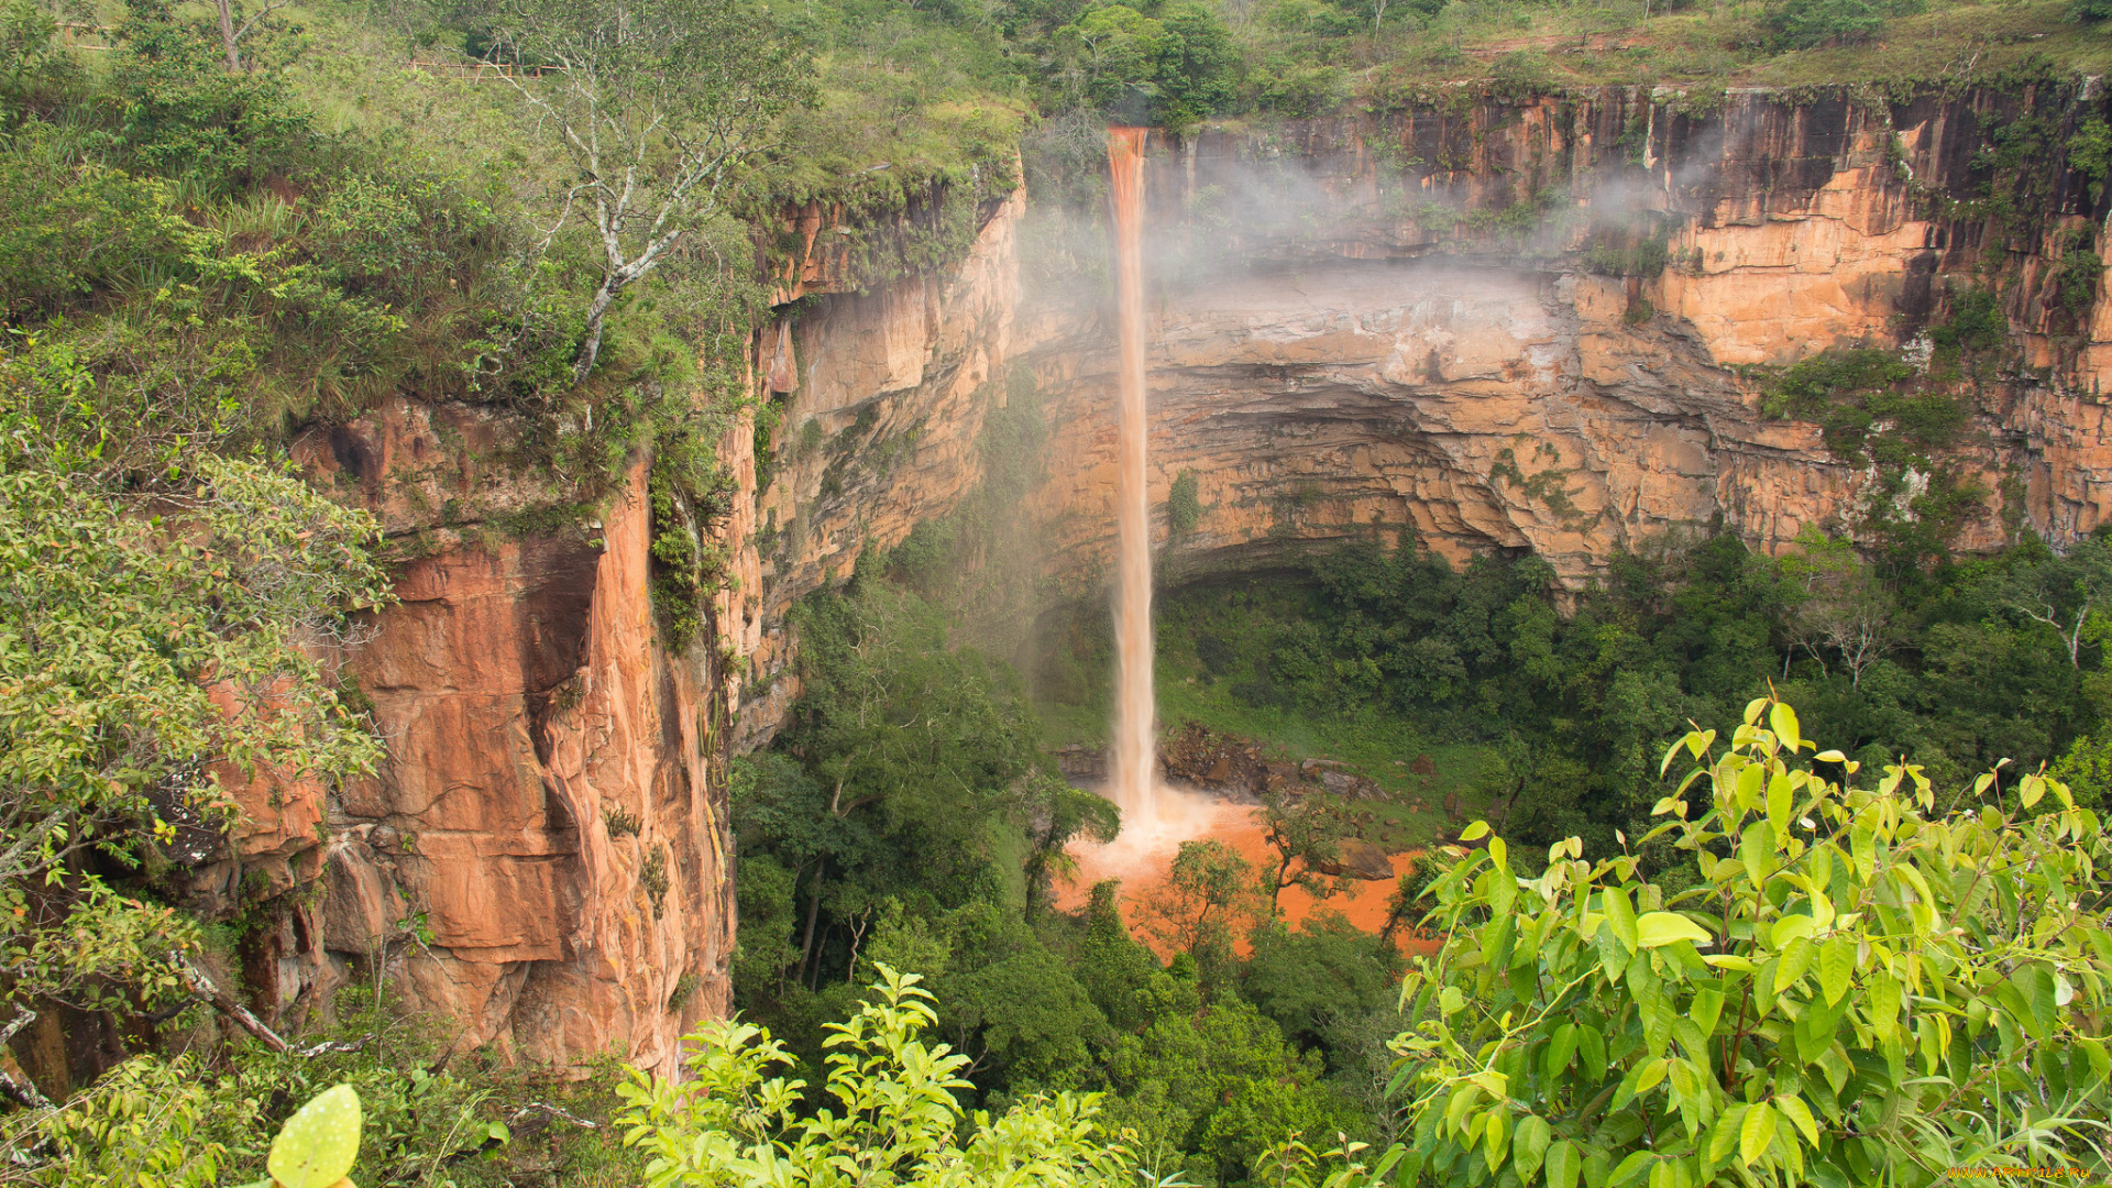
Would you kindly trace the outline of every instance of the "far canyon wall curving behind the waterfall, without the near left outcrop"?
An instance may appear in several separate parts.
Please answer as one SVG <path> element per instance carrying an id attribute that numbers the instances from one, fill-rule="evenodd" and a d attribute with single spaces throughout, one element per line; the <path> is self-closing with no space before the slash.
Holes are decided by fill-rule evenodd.
<path id="1" fill-rule="evenodd" d="M 1162 579 L 1413 526 L 1455 560 L 1531 550 L 1576 588 L 1616 550 L 1715 524 L 1766 552 L 1808 526 L 1852 531 L 1875 476 L 1816 425 L 1764 416 L 1768 368 L 1907 345 L 1996 279 L 2013 347 L 1970 393 L 1954 465 L 1987 495 L 1954 545 L 1994 550 L 2021 526 L 2072 541 L 2108 512 L 2112 302 L 2095 285 L 2085 317 L 2059 311 L 2053 277 L 2095 243 L 2108 201 L 2057 148 L 2101 110 L 2074 85 L 1911 101 L 1453 93 L 1155 137 Z M 1985 201 L 2006 192 L 1985 150 L 2019 127 L 2055 150 L 2030 159 L 2044 178 L 2021 228 Z M 1014 203 L 959 275 L 822 296 L 792 326 L 775 474 L 743 490 L 756 531 L 733 537 L 754 545 L 731 641 L 748 657 L 737 746 L 796 695 L 788 607 L 972 490 L 982 412 L 1014 393 L 1050 427 L 1043 484 L 1016 509 L 1041 581 L 1102 594 L 1115 334 L 1098 218 Z M 1658 266 L 1626 266 L 1639 249 Z M 758 372 L 777 342 L 762 336 Z M 1183 471 L 1200 518 L 1174 533 Z"/>

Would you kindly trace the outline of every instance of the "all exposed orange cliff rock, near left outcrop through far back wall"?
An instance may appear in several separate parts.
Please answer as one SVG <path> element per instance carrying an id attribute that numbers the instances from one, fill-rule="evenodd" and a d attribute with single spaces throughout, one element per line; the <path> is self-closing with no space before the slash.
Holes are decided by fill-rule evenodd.
<path id="1" fill-rule="evenodd" d="M 2057 144 L 2085 106 L 1451 97 L 1155 146 L 1153 501 L 1181 471 L 1200 497 L 1193 531 L 1159 526 L 1162 575 L 1404 524 L 1453 556 L 1533 550 L 1571 586 L 1713 520 L 1778 550 L 1852 520 L 1871 478 L 1814 425 L 1761 416 L 1745 368 L 1907 342 L 1975 275 L 2004 277 L 2019 347 L 1975 393 L 1958 465 L 1994 495 L 1958 543 L 1998 547 L 2013 524 L 2074 539 L 2112 484 L 2095 395 L 2112 302 L 2095 285 L 2078 317 L 2055 277 L 2106 203 L 2061 169 L 2030 220 L 1975 203 L 1992 127 L 2040 120 Z M 207 903 L 289 905 L 243 949 L 268 1010 L 382 970 L 467 1042 L 619 1046 L 665 1070 L 684 1025 L 727 1008 L 720 765 L 796 695 L 790 607 L 957 509 L 984 478 L 986 416 L 1026 397 L 1043 478 L 1001 512 L 1039 537 L 1043 583 L 1098 596 L 1113 323 L 1098 285 L 1022 283 L 1022 247 L 1090 260 L 1094 224 L 1024 197 L 978 216 L 965 260 L 862 290 L 828 254 L 828 211 L 788 218 L 805 258 L 773 277 L 807 300 L 756 336 L 760 457 L 754 421 L 724 444 L 718 647 L 657 638 L 642 474 L 600 520 L 501 524 L 490 509 L 536 495 L 477 461 L 505 454 L 498 414 L 399 402 L 302 442 L 319 480 L 425 545 L 346 662 L 389 767 L 253 788 L 199 873 Z M 1652 254 L 1668 266 L 1630 266 Z M 319 898 L 285 894 L 315 881 Z"/>

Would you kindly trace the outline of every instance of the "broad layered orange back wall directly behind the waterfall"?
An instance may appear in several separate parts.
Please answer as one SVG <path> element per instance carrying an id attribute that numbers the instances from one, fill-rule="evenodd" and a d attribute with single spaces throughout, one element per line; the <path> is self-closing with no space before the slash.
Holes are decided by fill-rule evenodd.
<path id="1" fill-rule="evenodd" d="M 1730 95 L 1687 116 L 1607 93 L 1168 146 L 1151 178 L 1153 490 L 1193 471 L 1202 518 L 1162 573 L 1413 524 L 1455 558 L 1533 550 L 1576 586 L 1614 550 L 1717 518 L 1768 552 L 1806 524 L 1842 531 L 1871 476 L 1814 425 L 1761 416 L 1747 368 L 1903 345 L 1975 275 L 2004 277 L 2021 347 L 1973 395 L 1956 461 L 1992 495 L 1956 545 L 1998 547 L 2013 524 L 2087 533 L 2112 476 L 2095 395 L 2112 304 L 2093 290 L 2068 326 L 2049 277 L 2091 243 L 2099 203 L 2053 169 L 2028 235 L 1970 205 L 1990 129 L 2074 112 Z M 1668 260 L 1656 275 L 1580 266 L 1649 249 Z M 1024 323 L 1039 334 L 1018 359 L 1079 429 L 1037 505 L 1052 569 L 1092 575 L 1111 547 L 1113 326 L 1096 294 Z"/>

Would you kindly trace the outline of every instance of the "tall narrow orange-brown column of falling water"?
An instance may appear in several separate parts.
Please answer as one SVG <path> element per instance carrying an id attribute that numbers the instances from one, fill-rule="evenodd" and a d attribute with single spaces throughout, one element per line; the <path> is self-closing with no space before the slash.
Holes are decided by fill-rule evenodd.
<path id="1" fill-rule="evenodd" d="M 1121 404 L 1115 416 L 1115 767 L 1126 831 L 1157 822 L 1153 795 L 1151 512 L 1145 488 L 1145 131 L 1107 129 L 1115 207 Z"/>

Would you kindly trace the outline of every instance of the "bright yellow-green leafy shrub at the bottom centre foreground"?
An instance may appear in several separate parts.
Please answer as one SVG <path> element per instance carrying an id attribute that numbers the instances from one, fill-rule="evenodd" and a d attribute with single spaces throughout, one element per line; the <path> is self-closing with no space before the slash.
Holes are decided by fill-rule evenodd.
<path id="1" fill-rule="evenodd" d="M 969 1057 L 921 1038 L 938 1013 L 917 974 L 879 974 L 876 1000 L 828 1025 L 826 1103 L 811 1116 L 796 1112 L 807 1084 L 771 1076 L 790 1053 L 752 1023 L 695 1032 L 689 1080 L 631 1072 L 625 1144 L 650 1156 L 646 1184 L 1130 1184 L 1130 1154 L 1100 1137 L 1092 1095 L 963 1118 L 953 1091 Z"/>

